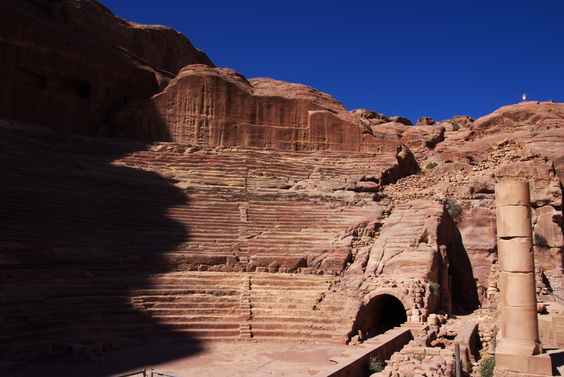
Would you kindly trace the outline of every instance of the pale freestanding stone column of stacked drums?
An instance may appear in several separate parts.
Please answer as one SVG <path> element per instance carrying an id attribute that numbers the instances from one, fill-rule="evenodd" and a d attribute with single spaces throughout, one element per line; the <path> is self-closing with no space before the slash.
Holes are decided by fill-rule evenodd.
<path id="1" fill-rule="evenodd" d="M 528 182 L 496 185 L 497 248 L 499 256 L 500 333 L 496 369 L 539 373 L 539 341 L 535 265 Z M 534 361 L 534 362 L 533 362 Z M 539 373 L 539 374 L 542 374 Z"/>

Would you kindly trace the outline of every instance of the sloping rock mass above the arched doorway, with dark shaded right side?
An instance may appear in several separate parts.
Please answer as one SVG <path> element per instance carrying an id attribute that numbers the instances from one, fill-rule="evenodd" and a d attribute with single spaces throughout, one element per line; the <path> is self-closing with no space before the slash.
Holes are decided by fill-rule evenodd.
<path id="1" fill-rule="evenodd" d="M 421 318 L 437 310 L 450 312 L 453 303 L 468 309 L 478 305 L 460 232 L 438 201 L 413 200 L 396 206 L 383 222 L 379 237 L 357 255 L 355 264 L 351 273 L 365 264 L 364 284 L 370 285 L 370 291 L 382 289 L 384 281 L 396 280 L 397 296 L 413 300 L 406 309 L 416 310 Z M 405 282 L 420 279 L 419 284 L 428 285 L 423 290 L 426 293 L 417 294 L 422 291 L 410 290 L 398 277 L 405 277 Z"/>

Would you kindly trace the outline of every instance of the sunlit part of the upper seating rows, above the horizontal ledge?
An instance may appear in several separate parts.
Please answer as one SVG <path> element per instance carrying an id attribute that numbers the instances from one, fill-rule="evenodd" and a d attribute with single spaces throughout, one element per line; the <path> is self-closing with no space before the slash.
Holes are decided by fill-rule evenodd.
<path id="1" fill-rule="evenodd" d="M 347 200 L 352 192 L 370 198 L 358 191 L 377 191 L 375 181 L 397 163 L 389 153 L 190 148 L 156 144 L 114 162 L 156 171 L 186 190 L 190 203 L 167 215 L 186 225 L 188 238 L 167 256 L 190 270 L 341 269 L 309 266 L 306 257 L 335 251 L 343 230 L 374 215 L 373 204 Z"/>

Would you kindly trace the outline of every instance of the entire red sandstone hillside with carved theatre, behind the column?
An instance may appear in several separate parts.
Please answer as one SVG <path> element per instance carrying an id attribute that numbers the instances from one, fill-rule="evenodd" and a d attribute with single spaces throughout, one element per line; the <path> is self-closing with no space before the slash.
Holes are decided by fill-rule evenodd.
<path id="1" fill-rule="evenodd" d="M 6 369 L 161 337 L 354 343 L 494 318 L 508 179 L 531 186 L 539 300 L 564 296 L 564 104 L 413 126 L 216 68 L 93 0 L 5 0 L 0 21 Z"/>

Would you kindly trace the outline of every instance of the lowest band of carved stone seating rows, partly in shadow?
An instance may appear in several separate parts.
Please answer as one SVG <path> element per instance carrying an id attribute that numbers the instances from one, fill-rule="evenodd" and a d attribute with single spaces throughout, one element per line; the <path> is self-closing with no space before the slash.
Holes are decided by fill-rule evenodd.
<path id="1" fill-rule="evenodd" d="M 22 273 L 3 287 L 2 356 L 64 351 L 84 339 L 249 339 L 242 325 L 257 340 L 337 341 L 346 333 L 329 277 L 188 271 L 34 277 L 41 272 Z M 250 308 L 241 305 L 245 300 Z"/>

